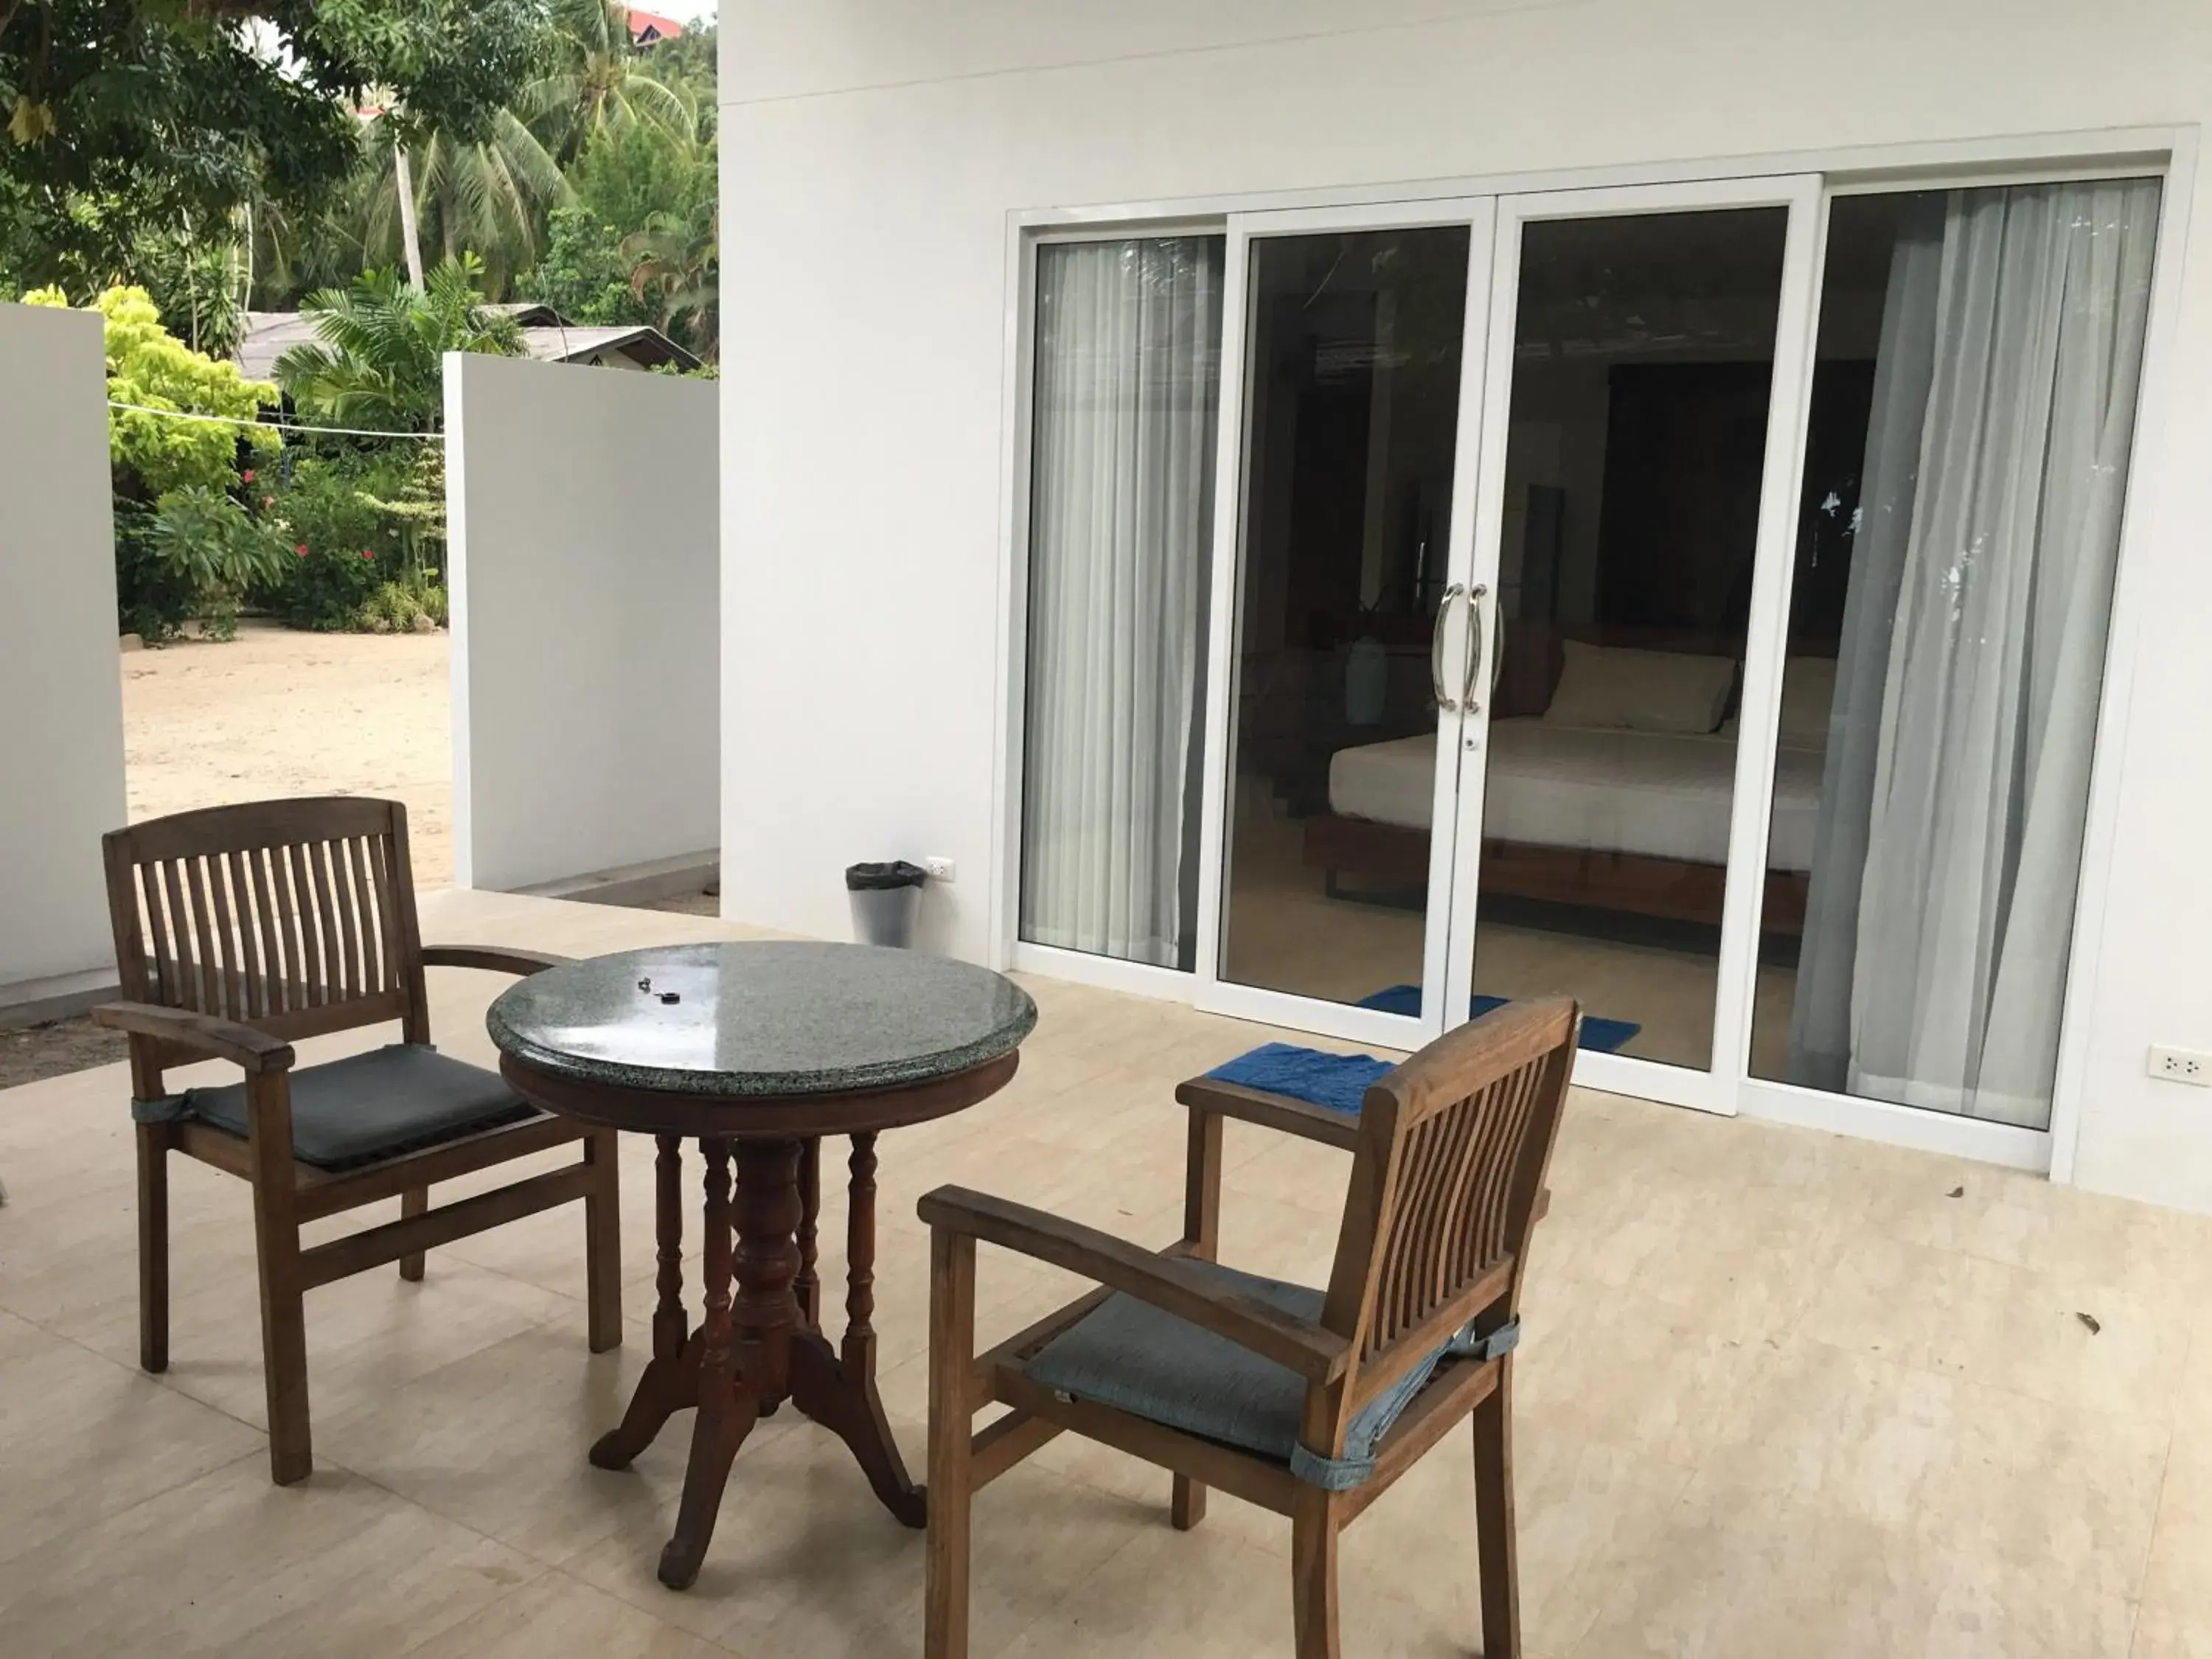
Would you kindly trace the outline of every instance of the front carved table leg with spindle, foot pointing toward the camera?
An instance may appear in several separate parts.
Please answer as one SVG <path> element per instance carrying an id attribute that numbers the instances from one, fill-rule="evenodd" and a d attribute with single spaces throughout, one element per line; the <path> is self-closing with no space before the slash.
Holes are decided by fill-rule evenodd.
<path id="1" fill-rule="evenodd" d="M 737 1329 L 730 1316 L 730 1141 L 701 1139 L 706 1152 L 706 1323 L 699 1327 L 699 1416 L 692 1420 L 690 1462 L 684 1469 L 684 1500 L 677 1506 L 677 1531 L 661 1551 L 661 1584 L 684 1590 L 699 1577 L 699 1562 L 714 1537 L 721 1491 L 730 1480 L 730 1462 L 759 1416 L 757 1358 L 761 1336 L 748 1325 L 759 1316 L 757 1287 L 739 1290 Z M 754 1172 L 745 1150 L 739 1152 L 739 1228 L 757 1223 L 759 1199 L 752 1192 Z M 787 1239 L 785 1239 L 787 1241 Z M 759 1237 L 739 1250 L 739 1274 L 757 1265 L 748 1252 L 759 1250 Z M 787 1290 L 790 1272 L 783 1285 Z M 737 1349 L 737 1352 L 732 1352 Z M 743 1385 L 739 1365 L 745 1367 Z"/>

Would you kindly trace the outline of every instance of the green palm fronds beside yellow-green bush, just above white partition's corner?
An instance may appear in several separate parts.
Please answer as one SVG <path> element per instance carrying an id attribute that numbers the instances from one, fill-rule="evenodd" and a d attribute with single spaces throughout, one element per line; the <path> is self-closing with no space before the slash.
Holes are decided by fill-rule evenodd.
<path id="1" fill-rule="evenodd" d="M 436 431 L 445 418 L 445 354 L 518 356 L 522 327 L 484 307 L 482 265 L 447 259 L 427 288 L 369 270 L 301 301 L 321 336 L 276 358 L 276 385 L 307 416 L 380 431 Z"/>

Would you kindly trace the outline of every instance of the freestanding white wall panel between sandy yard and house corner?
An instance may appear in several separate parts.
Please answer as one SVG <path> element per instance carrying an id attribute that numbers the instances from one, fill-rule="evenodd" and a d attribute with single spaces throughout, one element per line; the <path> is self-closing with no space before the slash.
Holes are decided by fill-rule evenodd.
<path id="1" fill-rule="evenodd" d="M 712 852 L 714 387 L 447 356 L 453 885 Z"/>

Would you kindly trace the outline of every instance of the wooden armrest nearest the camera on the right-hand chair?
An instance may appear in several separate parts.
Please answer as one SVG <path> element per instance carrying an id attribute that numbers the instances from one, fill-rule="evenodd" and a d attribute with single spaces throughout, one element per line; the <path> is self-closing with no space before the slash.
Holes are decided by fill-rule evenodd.
<path id="1" fill-rule="evenodd" d="M 1352 1358 L 1352 1345 L 1343 1336 L 1270 1303 L 1221 1290 L 1203 1265 L 1186 1256 L 1161 1256 L 1079 1221 L 960 1186 L 927 1192 L 918 1210 L 931 1228 L 962 1232 L 1126 1292 L 1287 1365 L 1307 1383 L 1334 1383 Z"/>

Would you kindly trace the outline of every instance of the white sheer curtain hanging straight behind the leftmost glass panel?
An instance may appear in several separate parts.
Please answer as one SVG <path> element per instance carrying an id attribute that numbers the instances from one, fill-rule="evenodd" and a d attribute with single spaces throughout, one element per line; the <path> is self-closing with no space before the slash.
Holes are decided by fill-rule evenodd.
<path id="1" fill-rule="evenodd" d="M 1221 239 L 1037 250 L 1022 938 L 1186 967 Z"/>

